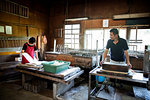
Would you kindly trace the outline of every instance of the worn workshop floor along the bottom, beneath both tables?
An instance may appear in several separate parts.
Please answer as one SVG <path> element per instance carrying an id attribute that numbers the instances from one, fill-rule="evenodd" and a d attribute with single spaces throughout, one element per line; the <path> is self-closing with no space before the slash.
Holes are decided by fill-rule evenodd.
<path id="1" fill-rule="evenodd" d="M 24 90 L 20 83 L 21 82 L 0 83 L 0 100 L 53 100 L 52 89 L 45 89 L 39 93 L 33 93 Z M 60 100 L 88 100 L 88 84 L 82 84 L 80 86 L 74 87 L 67 91 L 65 94 L 61 95 L 60 97 L 62 98 Z M 122 94 L 121 91 L 118 91 L 115 98 L 115 100 L 141 100 L 133 96 L 124 95 L 124 93 Z M 91 98 L 90 100 L 97 99 Z"/>

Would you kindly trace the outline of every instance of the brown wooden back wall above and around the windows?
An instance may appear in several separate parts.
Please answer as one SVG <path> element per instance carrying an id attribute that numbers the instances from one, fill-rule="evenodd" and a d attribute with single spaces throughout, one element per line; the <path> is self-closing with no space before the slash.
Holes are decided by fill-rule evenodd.
<path id="1" fill-rule="evenodd" d="M 65 24 L 81 24 L 81 36 L 85 29 L 102 28 L 102 20 L 109 19 L 110 26 L 125 25 L 126 20 L 113 20 L 113 15 L 130 13 L 149 13 L 148 0 L 58 0 L 50 7 L 49 50 L 53 48 L 54 31 Z M 89 17 L 87 21 L 65 22 L 65 18 Z M 81 37 L 81 48 L 83 47 Z M 64 37 L 56 38 L 57 44 L 64 43 Z"/>

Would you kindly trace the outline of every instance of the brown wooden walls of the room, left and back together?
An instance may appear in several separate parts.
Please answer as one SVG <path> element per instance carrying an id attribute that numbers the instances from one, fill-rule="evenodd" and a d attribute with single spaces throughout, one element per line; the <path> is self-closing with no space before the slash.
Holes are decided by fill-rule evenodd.
<path id="1" fill-rule="evenodd" d="M 0 34 L 0 36 L 36 37 L 44 33 L 48 41 L 47 50 L 53 49 L 55 30 L 64 29 L 64 25 L 70 23 L 65 22 L 65 18 L 89 17 L 88 21 L 74 22 L 81 24 L 81 34 L 84 34 L 87 28 L 101 28 L 103 19 L 109 19 L 109 25 L 112 26 L 126 24 L 126 20 L 112 20 L 113 15 L 150 12 L 149 0 L 11 1 L 29 7 L 29 18 L 0 12 L 0 24 L 13 27 L 12 35 Z M 63 37 L 57 38 L 58 44 L 63 42 Z"/>

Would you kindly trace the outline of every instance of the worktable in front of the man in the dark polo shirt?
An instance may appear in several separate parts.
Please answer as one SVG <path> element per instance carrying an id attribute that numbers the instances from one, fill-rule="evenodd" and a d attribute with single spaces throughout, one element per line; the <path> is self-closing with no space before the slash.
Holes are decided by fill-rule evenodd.
<path id="1" fill-rule="evenodd" d="M 125 80 L 130 82 L 137 82 L 137 83 L 144 83 L 148 82 L 148 78 L 143 77 L 143 73 L 134 73 L 133 77 L 121 77 L 121 76 L 114 76 L 114 75 L 107 75 L 102 73 L 97 73 L 97 71 L 101 71 L 102 67 L 96 67 L 92 71 L 89 72 L 89 89 L 88 89 L 88 100 L 90 100 L 91 94 L 94 92 L 94 89 L 91 90 L 91 76 L 104 76 L 112 79 L 119 79 Z M 97 80 L 96 80 L 97 81 Z"/>

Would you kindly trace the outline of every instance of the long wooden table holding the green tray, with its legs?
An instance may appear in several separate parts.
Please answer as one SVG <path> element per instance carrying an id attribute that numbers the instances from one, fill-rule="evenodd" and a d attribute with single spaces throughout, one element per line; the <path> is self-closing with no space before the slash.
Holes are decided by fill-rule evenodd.
<path id="1" fill-rule="evenodd" d="M 74 68 L 69 67 L 69 69 L 65 71 L 62 71 L 58 74 L 53 74 L 49 72 L 44 72 L 43 69 L 31 68 L 29 66 L 27 67 L 25 64 L 19 64 L 16 66 L 16 70 L 22 73 L 22 86 L 26 87 L 26 83 L 25 83 L 26 75 L 54 81 L 53 82 L 53 99 L 54 100 L 57 99 L 58 95 L 66 92 L 72 86 L 74 86 L 74 79 L 79 77 L 84 72 L 83 70 L 80 70 L 80 69 L 78 70 L 78 69 L 79 68 L 77 67 L 74 67 Z M 34 90 L 36 90 L 35 86 L 33 86 L 33 91 Z"/>

